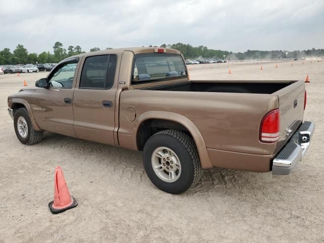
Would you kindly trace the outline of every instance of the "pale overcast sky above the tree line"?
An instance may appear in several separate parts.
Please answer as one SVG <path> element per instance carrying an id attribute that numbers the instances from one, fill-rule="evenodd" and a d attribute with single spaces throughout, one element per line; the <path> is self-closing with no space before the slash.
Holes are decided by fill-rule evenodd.
<path id="1" fill-rule="evenodd" d="M 324 48 L 323 0 L 0 0 L 0 50 L 184 43 L 232 52 Z"/>

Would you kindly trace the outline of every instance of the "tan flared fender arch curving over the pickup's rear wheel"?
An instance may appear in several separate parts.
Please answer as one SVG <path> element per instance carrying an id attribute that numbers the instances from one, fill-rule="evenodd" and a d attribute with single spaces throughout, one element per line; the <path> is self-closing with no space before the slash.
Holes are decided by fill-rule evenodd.
<path id="1" fill-rule="evenodd" d="M 200 159 L 200 164 L 203 169 L 210 169 L 213 167 L 211 160 L 208 155 L 208 151 L 206 148 L 205 141 L 203 137 L 201 136 L 199 130 L 197 127 L 192 123 L 191 120 L 189 120 L 187 117 L 173 113 L 173 112 L 168 112 L 168 111 L 147 111 L 141 114 L 137 119 L 136 123 L 134 126 L 134 131 L 133 134 L 133 142 L 134 144 L 137 144 L 136 141 L 136 134 L 137 131 L 140 127 L 140 125 L 143 123 L 143 121 L 147 119 L 164 119 L 164 120 L 171 120 L 175 121 L 176 123 L 181 124 L 184 126 L 191 134 L 191 136 L 194 139 L 194 142 L 196 144 L 198 154 L 199 154 L 199 159 Z"/>

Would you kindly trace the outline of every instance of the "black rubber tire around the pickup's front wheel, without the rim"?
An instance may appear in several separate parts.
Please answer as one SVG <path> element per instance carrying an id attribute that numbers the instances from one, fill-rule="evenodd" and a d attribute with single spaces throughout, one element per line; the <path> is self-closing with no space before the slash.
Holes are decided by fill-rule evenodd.
<path id="1" fill-rule="evenodd" d="M 23 138 L 19 134 L 19 131 L 17 128 L 17 120 L 20 116 L 24 117 L 26 120 L 26 123 L 27 123 L 28 133 L 27 133 L 26 138 Z M 15 132 L 16 132 L 16 136 L 17 136 L 18 140 L 23 144 L 32 145 L 32 144 L 41 142 L 43 139 L 44 133 L 41 131 L 34 130 L 26 108 L 19 108 L 16 110 L 16 112 L 14 114 L 14 127 L 15 127 Z"/>

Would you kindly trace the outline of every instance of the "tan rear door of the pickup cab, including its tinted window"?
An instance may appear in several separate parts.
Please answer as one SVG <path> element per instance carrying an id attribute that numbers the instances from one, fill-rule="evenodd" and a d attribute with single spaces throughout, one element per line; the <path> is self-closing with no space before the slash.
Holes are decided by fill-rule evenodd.
<path id="1" fill-rule="evenodd" d="M 74 131 L 78 138 L 114 145 L 114 82 L 117 55 L 95 55 L 83 59 L 73 96 Z"/>

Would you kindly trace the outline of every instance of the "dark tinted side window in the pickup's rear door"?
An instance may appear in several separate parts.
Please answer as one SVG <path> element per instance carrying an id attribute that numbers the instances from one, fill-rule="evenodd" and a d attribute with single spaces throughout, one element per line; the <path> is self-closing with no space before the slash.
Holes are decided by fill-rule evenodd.
<path id="1" fill-rule="evenodd" d="M 87 57 L 80 77 L 80 89 L 110 89 L 116 71 L 117 56 Z"/>

